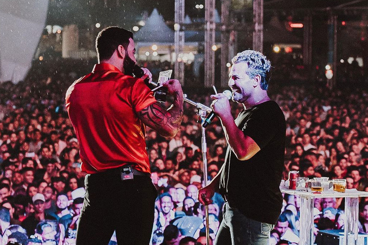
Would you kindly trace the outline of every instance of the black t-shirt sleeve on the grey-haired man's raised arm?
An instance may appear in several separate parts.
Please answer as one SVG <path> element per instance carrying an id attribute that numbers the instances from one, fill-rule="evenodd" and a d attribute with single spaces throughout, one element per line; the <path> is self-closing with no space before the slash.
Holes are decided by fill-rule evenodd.
<path id="1" fill-rule="evenodd" d="M 259 148 L 264 148 L 275 136 L 277 132 L 277 116 L 269 113 L 255 111 L 245 122 L 243 127 L 244 135 L 255 141 Z"/>

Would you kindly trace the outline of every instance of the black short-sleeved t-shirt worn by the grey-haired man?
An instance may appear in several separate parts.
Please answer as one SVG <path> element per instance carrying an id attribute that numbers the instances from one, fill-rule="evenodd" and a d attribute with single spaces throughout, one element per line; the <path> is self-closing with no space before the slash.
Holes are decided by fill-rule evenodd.
<path id="1" fill-rule="evenodd" d="M 261 150 L 241 161 L 228 146 L 220 193 L 246 217 L 276 224 L 283 200 L 279 186 L 285 156 L 284 114 L 275 101 L 266 101 L 240 112 L 235 123 Z"/>

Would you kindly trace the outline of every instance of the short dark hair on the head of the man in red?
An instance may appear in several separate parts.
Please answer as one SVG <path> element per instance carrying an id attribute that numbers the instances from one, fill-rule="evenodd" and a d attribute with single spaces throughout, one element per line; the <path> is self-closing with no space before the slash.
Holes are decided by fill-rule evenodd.
<path id="1" fill-rule="evenodd" d="M 96 51 L 99 61 L 111 58 L 119 45 L 126 50 L 133 33 L 117 26 L 110 26 L 101 30 L 96 38 Z"/>

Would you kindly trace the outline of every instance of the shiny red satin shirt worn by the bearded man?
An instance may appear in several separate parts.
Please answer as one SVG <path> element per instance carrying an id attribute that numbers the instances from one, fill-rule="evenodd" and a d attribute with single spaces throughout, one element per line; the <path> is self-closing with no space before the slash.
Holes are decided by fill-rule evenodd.
<path id="1" fill-rule="evenodd" d="M 80 147 L 82 171 L 98 173 L 135 163 L 150 173 L 145 126 L 137 112 L 156 102 L 140 78 L 96 64 L 66 93 L 66 108 Z"/>

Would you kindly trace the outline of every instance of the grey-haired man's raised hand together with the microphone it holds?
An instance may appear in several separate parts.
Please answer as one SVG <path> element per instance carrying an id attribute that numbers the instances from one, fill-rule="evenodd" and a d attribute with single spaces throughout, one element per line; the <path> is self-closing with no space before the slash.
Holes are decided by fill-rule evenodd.
<path id="1" fill-rule="evenodd" d="M 216 115 L 219 116 L 220 119 L 231 116 L 231 108 L 229 103 L 231 96 L 232 93 L 229 90 L 211 95 L 211 98 L 215 99 L 211 104 L 212 111 L 202 122 L 202 127 L 207 127 Z"/>

